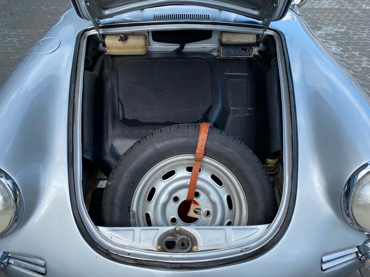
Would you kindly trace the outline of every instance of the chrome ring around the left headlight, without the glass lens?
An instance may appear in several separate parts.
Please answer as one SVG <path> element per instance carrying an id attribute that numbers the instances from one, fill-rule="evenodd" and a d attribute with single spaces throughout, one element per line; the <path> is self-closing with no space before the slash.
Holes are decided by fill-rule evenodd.
<path id="1" fill-rule="evenodd" d="M 19 225 L 23 216 L 23 198 L 16 182 L 6 172 L 0 170 L 0 182 L 7 188 L 14 203 L 14 216 L 8 227 L 0 232 L 0 238 L 3 238 L 13 232 Z"/>

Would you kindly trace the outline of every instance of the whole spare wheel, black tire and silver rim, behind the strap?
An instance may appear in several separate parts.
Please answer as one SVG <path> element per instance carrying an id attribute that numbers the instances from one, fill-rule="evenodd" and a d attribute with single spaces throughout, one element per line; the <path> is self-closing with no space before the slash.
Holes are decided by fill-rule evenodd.
<path id="1" fill-rule="evenodd" d="M 210 127 L 194 201 L 199 219 L 178 213 L 186 198 L 199 124 L 165 127 L 141 138 L 115 164 L 102 198 L 105 226 L 259 225 L 277 205 L 270 178 L 253 152 Z"/>

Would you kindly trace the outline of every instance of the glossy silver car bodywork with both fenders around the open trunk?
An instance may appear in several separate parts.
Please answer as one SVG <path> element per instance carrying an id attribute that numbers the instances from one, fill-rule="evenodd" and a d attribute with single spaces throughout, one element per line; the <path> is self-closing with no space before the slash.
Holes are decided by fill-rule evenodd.
<path id="1" fill-rule="evenodd" d="M 323 272 L 321 258 L 367 238 L 343 218 L 340 197 L 353 171 L 369 161 L 369 99 L 293 12 L 270 25 L 286 44 L 297 121 L 296 204 L 290 207 L 294 212 L 284 236 L 255 259 L 202 270 L 136 267 L 97 253 L 76 225 L 68 183 L 73 58 L 79 35 L 91 27 L 68 10 L 43 36 L 58 38 L 60 46 L 49 54 L 26 55 L 0 87 L 0 168 L 17 182 L 24 198 L 23 219 L 0 240 L 2 251 L 40 257 L 53 277 L 346 276 L 361 266 L 351 259 Z M 34 276 L 13 264 L 4 271 Z"/>

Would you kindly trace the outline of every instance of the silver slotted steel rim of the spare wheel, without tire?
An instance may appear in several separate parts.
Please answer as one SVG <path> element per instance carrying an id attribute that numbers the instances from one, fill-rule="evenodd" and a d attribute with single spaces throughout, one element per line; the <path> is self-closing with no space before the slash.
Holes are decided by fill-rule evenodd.
<path id="1" fill-rule="evenodd" d="M 199 196 L 194 198 L 201 206 L 201 216 L 191 224 L 179 218 L 178 205 L 186 199 L 191 175 L 189 167 L 193 163 L 194 154 L 176 155 L 148 170 L 132 197 L 132 226 L 246 225 L 248 204 L 240 182 L 228 168 L 206 156 L 196 186 Z"/>

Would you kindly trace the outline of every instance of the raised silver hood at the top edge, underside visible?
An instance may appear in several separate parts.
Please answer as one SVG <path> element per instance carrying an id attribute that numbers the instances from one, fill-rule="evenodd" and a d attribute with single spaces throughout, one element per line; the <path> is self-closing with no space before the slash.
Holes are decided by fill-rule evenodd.
<path id="1" fill-rule="evenodd" d="M 292 0 L 71 0 L 77 14 L 95 21 L 94 25 L 101 19 L 118 14 L 166 5 L 216 8 L 261 20 L 263 25 L 268 25 L 285 15 L 291 2 Z"/>

